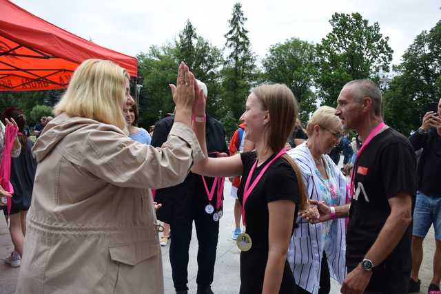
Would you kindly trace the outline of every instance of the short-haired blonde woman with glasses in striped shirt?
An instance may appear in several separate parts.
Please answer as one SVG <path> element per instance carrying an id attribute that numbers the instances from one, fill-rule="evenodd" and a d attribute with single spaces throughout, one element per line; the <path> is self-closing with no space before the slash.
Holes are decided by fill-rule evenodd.
<path id="1" fill-rule="evenodd" d="M 318 108 L 307 125 L 308 140 L 288 151 L 302 172 L 309 199 L 329 206 L 345 204 L 347 193 L 345 176 L 327 156 L 342 136 L 335 112 L 328 106 Z M 299 294 L 329 293 L 330 276 L 340 284 L 345 280 L 345 233 L 342 218 L 320 224 L 297 219 L 288 260 Z"/>

